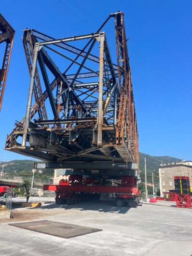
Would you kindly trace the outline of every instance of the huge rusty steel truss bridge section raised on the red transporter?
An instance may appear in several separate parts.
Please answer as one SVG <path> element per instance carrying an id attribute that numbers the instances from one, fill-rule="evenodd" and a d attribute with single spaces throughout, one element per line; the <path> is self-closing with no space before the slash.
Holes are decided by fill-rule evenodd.
<path id="1" fill-rule="evenodd" d="M 117 64 L 112 62 L 105 33 L 100 32 L 111 17 Z M 85 40 L 82 49 L 76 46 Z M 137 163 L 137 121 L 123 13 L 111 14 L 89 35 L 54 39 L 26 29 L 23 44 L 31 77 L 27 111 L 7 137 L 5 149 L 49 162 Z M 58 67 L 61 58 L 65 62 Z M 63 64 L 66 70 L 60 71 Z"/>

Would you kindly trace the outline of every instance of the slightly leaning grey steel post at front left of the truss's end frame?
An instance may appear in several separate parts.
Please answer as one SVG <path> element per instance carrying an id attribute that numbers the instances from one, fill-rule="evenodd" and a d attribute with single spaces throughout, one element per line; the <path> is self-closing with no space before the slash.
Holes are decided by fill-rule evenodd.
<path id="1" fill-rule="evenodd" d="M 27 130 L 28 130 L 28 123 L 30 121 L 30 109 L 31 109 L 31 101 L 32 101 L 32 95 L 33 95 L 33 85 L 34 85 L 34 79 L 35 79 L 35 70 L 37 65 L 38 51 L 39 51 L 39 43 L 36 43 L 34 59 L 33 59 L 33 68 L 31 72 L 31 80 L 30 80 L 29 91 L 28 91 L 28 101 L 27 101 L 27 110 L 26 110 L 24 129 L 23 129 L 22 147 L 26 146 L 26 141 L 27 141 Z"/>

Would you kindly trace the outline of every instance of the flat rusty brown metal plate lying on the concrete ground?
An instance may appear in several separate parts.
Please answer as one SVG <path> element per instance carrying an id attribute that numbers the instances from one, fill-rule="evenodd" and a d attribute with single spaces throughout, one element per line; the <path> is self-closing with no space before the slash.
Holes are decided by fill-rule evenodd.
<path id="1" fill-rule="evenodd" d="M 49 220 L 14 223 L 9 225 L 17 228 L 25 228 L 31 231 L 36 231 L 39 233 L 62 237 L 62 238 L 72 238 L 72 237 L 77 237 L 77 236 L 82 236 L 82 235 L 102 231 L 102 229 L 98 229 L 98 228 L 89 228 L 89 227 L 71 225 L 68 223 L 55 222 L 55 221 L 49 221 Z"/>

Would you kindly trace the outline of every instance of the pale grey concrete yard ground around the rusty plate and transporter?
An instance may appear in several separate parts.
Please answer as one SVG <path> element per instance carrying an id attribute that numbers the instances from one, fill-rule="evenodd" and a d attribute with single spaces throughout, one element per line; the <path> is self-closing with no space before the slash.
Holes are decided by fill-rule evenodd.
<path id="1" fill-rule="evenodd" d="M 44 201 L 41 208 L 15 208 L 12 219 L 0 220 L 0 255 L 192 255 L 192 209 L 176 208 L 175 202 L 141 201 L 137 208 L 116 207 L 112 199 L 74 205 L 55 204 L 54 197 L 29 202 L 38 200 Z M 64 239 L 9 225 L 40 220 L 102 231 Z"/>

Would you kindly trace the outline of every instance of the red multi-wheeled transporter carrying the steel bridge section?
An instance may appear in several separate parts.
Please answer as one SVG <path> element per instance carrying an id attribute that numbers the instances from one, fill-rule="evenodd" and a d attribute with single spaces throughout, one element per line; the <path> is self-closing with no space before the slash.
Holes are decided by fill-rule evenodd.
<path id="1" fill-rule="evenodd" d="M 61 180 L 59 185 L 43 185 L 43 190 L 56 192 L 55 202 L 72 204 L 80 201 L 100 199 L 101 193 L 113 193 L 116 205 L 136 207 L 139 201 L 136 177 L 121 177 L 121 184 L 82 175 L 70 175 L 69 182 Z"/>

